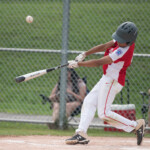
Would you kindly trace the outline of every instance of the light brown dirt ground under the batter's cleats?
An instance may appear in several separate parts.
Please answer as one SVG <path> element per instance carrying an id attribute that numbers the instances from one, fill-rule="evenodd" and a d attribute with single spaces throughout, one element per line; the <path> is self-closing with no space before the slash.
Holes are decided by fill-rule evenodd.
<path id="1" fill-rule="evenodd" d="M 89 137 L 87 145 L 66 145 L 61 136 L 0 136 L 0 150 L 150 150 L 150 138 L 141 146 L 136 138 Z"/>

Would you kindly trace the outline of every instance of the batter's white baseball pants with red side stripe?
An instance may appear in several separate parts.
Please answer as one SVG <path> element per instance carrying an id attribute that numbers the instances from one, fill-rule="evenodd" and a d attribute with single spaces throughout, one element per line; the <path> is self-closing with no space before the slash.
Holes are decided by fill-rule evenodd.
<path id="1" fill-rule="evenodd" d="M 87 132 L 87 129 L 95 116 L 97 110 L 100 119 L 107 121 L 110 125 L 131 132 L 135 129 L 136 121 L 131 121 L 111 111 L 111 105 L 117 93 L 123 88 L 114 79 L 103 75 L 91 92 L 85 97 L 79 127 L 76 132 Z"/>

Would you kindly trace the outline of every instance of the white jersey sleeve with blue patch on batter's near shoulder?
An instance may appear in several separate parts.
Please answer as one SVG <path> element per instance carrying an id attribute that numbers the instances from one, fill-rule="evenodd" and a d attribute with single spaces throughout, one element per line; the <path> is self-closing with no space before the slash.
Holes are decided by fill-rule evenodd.
<path id="1" fill-rule="evenodd" d="M 124 54 L 128 51 L 129 46 L 127 47 L 118 47 L 115 51 L 109 54 L 110 58 L 113 61 L 116 61 L 117 59 L 124 56 Z"/>

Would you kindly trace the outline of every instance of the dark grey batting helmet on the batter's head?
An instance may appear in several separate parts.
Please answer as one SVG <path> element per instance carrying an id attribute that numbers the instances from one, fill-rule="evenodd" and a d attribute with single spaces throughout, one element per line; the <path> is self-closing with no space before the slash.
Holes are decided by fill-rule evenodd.
<path id="1" fill-rule="evenodd" d="M 138 29 L 133 22 L 124 22 L 118 26 L 116 32 L 112 34 L 112 38 L 119 43 L 127 43 L 132 45 L 137 37 Z"/>

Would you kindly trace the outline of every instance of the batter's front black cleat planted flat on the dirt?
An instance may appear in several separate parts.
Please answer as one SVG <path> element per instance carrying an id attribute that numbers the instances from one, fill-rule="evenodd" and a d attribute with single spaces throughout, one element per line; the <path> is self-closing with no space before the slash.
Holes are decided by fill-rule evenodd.
<path id="1" fill-rule="evenodd" d="M 82 133 L 77 133 L 73 137 L 66 140 L 66 144 L 75 145 L 75 144 L 88 144 L 89 140 L 81 135 Z"/>

